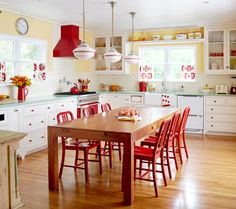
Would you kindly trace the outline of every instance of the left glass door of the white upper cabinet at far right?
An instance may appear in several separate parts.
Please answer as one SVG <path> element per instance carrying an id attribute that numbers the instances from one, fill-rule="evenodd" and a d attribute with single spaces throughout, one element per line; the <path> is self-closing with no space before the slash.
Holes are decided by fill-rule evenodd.
<path id="1" fill-rule="evenodd" d="M 206 35 L 206 70 L 222 72 L 226 69 L 225 30 L 209 30 Z"/>

